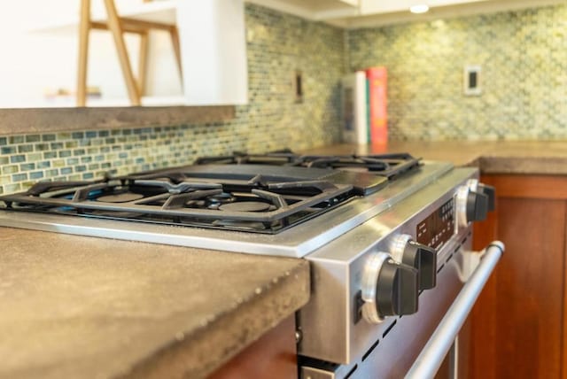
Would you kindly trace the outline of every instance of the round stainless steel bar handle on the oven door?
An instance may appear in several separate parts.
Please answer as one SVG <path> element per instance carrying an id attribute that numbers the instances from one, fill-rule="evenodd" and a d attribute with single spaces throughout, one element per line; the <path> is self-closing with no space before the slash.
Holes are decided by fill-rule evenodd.
<path id="1" fill-rule="evenodd" d="M 504 252 L 504 244 L 500 241 L 488 244 L 485 250 L 480 252 L 483 257 L 478 267 L 470 275 L 457 298 L 454 299 L 453 305 L 449 307 L 443 320 L 423 347 L 422 352 L 406 374 L 406 378 L 432 378 L 437 373 L 447 356 L 447 352 L 453 345 L 454 339 L 459 334 L 462 324 L 466 321 L 472 306 L 477 301 L 478 295 L 493 273 L 502 252 Z"/>

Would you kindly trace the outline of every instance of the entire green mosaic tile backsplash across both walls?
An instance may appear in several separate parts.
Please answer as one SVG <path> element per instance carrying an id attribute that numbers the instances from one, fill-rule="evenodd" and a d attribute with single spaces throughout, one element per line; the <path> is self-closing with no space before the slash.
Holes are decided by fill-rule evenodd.
<path id="1" fill-rule="evenodd" d="M 0 136 L 0 194 L 231 151 L 340 140 L 344 73 L 388 67 L 393 140 L 567 137 L 567 5 L 345 31 L 246 4 L 249 104 L 229 122 Z M 464 65 L 483 93 L 462 94 Z M 295 101 L 292 77 L 303 75 Z"/>

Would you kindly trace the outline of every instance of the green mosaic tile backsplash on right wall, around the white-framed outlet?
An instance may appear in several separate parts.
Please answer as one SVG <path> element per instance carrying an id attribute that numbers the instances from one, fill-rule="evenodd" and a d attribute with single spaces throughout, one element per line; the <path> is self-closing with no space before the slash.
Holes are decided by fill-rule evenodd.
<path id="1" fill-rule="evenodd" d="M 565 4 L 357 29 L 347 39 L 350 70 L 388 67 L 392 139 L 567 137 Z M 482 66 L 482 95 L 463 95 L 465 65 Z"/>

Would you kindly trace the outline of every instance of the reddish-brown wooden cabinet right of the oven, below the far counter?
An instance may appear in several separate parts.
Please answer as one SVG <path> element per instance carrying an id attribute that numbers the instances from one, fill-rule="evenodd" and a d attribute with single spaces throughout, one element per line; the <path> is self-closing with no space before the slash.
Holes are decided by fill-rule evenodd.
<path id="1" fill-rule="evenodd" d="M 470 378 L 567 374 L 567 177 L 485 175 L 496 213 L 475 226 L 475 249 L 506 244 L 471 314 Z M 564 347 L 565 346 L 565 347 Z"/>

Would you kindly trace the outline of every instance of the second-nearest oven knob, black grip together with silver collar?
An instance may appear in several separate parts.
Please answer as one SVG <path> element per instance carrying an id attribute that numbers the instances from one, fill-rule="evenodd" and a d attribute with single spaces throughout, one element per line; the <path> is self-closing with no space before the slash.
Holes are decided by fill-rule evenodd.
<path id="1" fill-rule="evenodd" d="M 390 245 L 392 258 L 417 269 L 419 290 L 431 290 L 437 282 L 437 251 L 418 244 L 409 235 L 395 236 Z"/>

